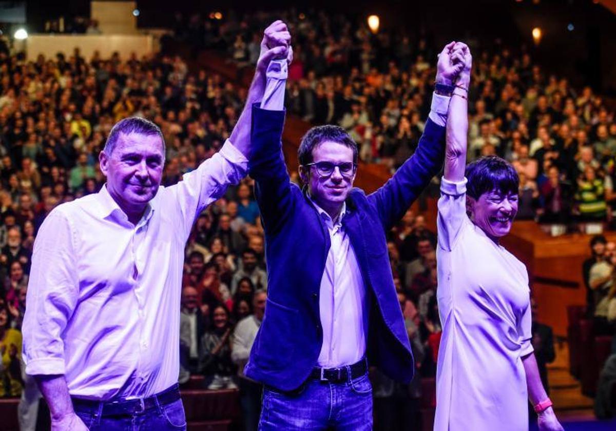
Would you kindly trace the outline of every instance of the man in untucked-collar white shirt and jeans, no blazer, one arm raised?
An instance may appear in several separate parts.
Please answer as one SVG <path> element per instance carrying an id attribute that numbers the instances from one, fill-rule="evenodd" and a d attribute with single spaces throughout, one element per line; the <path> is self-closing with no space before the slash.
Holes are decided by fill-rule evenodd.
<path id="1" fill-rule="evenodd" d="M 221 151 L 160 187 L 164 140 L 123 119 L 100 153 L 100 193 L 62 204 L 34 243 L 23 323 L 26 373 L 52 429 L 185 429 L 177 389 L 184 246 L 195 218 L 246 174 L 251 107 L 288 32 L 265 30 L 246 108 Z"/>

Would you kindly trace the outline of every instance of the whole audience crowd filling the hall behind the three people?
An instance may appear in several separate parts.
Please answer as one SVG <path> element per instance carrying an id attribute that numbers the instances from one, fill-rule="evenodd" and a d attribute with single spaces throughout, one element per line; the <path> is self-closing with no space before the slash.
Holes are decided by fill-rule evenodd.
<path id="1" fill-rule="evenodd" d="M 283 17 L 292 28 L 295 55 L 288 111 L 315 124 L 340 124 L 357 141 L 363 161 L 395 170 L 415 150 L 428 116 L 434 47 L 403 33 L 375 35 L 336 15 Z M 176 38 L 226 49 L 239 66 L 250 65 L 271 19 L 178 14 Z M 604 100 L 590 88 L 577 91 L 567 79 L 546 76 L 527 53 L 474 52 L 469 160 L 497 154 L 514 164 L 521 218 L 611 222 L 616 124 Z M 168 187 L 221 148 L 245 97 L 246 89 L 205 70 L 188 71 L 179 57 L 84 58 L 75 49 L 25 62 L 0 54 L 0 397 L 19 396 L 28 378 L 20 362 L 20 326 L 36 232 L 58 204 L 100 190 L 97 156 L 113 124 L 137 115 L 161 127 Z M 413 427 L 419 378 L 436 374 L 436 236 L 423 216 L 408 211 L 388 239 L 419 377 L 407 387 L 375 371 L 375 414 L 386 421 L 404 411 L 395 426 Z M 593 259 L 585 264 L 589 304 L 611 334 L 614 244 L 594 241 Z M 260 387 L 243 376 L 243 365 L 264 315 L 267 267 L 250 179 L 200 214 L 185 252 L 180 383 L 199 374 L 206 389 L 239 387 L 246 427 L 253 429 Z M 535 347 L 549 351 L 551 332 L 549 340 L 537 336 Z M 553 348 L 545 358 L 553 360 Z"/>

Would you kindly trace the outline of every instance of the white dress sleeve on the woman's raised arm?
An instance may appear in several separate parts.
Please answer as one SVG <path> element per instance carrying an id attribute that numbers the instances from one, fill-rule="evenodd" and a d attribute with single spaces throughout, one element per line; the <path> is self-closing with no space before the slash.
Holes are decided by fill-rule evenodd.
<path id="1" fill-rule="evenodd" d="M 439 247 L 445 251 L 452 251 L 461 228 L 468 221 L 468 216 L 466 216 L 466 178 L 460 182 L 441 179 L 438 207 Z"/>

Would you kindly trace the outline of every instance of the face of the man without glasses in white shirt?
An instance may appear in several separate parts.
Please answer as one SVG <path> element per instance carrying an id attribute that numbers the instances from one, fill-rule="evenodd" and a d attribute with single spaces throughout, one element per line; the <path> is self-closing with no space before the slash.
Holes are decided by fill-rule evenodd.
<path id="1" fill-rule="evenodd" d="M 158 135 L 120 134 L 110 156 L 100 153 L 107 190 L 121 207 L 141 209 L 156 196 L 163 164 L 163 142 Z"/>

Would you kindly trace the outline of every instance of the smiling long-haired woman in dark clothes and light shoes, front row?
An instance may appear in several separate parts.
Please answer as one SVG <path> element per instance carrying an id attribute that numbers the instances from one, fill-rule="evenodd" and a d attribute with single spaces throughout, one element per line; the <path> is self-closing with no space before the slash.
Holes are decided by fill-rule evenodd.
<path id="1" fill-rule="evenodd" d="M 199 371 L 206 376 L 206 389 L 236 389 L 235 365 L 231 361 L 232 326 L 227 307 L 214 305 L 209 322 L 209 329 L 201 336 L 199 352 Z"/>

